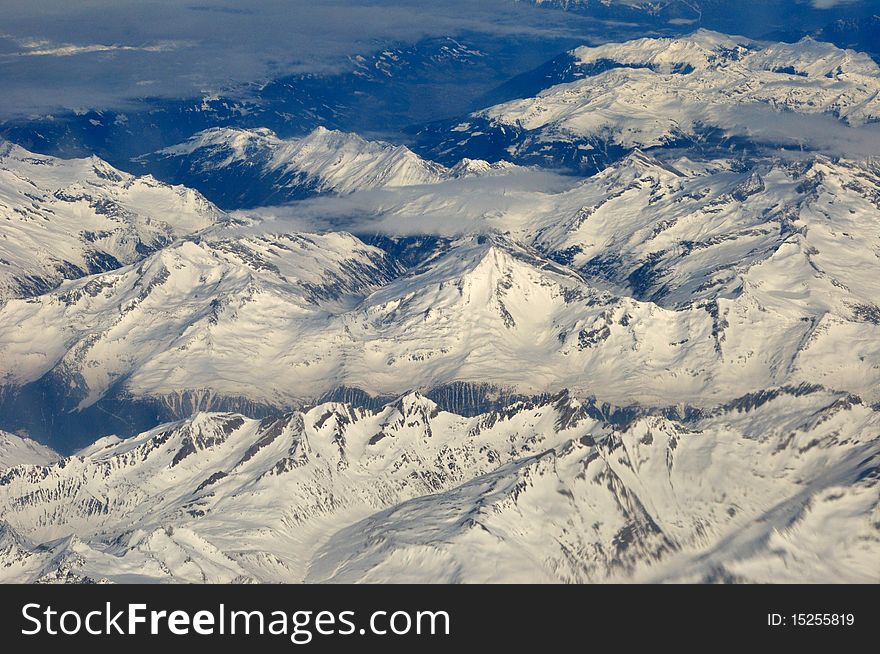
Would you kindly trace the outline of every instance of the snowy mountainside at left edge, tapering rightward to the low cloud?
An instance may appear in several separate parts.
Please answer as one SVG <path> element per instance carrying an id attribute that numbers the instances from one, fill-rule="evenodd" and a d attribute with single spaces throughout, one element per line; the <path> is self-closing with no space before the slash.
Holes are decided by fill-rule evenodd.
<path id="1" fill-rule="evenodd" d="M 0 304 L 139 261 L 228 217 L 198 192 L 95 157 L 0 143 Z"/>

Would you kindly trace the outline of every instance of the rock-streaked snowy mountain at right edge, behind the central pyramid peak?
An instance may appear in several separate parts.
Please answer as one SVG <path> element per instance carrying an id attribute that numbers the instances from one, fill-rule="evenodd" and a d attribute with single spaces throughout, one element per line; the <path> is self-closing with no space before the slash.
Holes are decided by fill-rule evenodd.
<path id="1" fill-rule="evenodd" d="M 872 271 L 878 194 L 880 169 L 871 164 L 809 157 L 744 168 L 637 152 L 560 194 L 552 212 L 533 216 L 524 230 L 594 282 L 662 306 L 735 299 L 778 274 L 817 300 L 829 298 L 808 302 L 818 314 L 847 315 L 846 307 L 859 313 L 874 305 L 880 291 Z M 872 245 L 855 245 L 855 235 Z M 810 272 L 793 276 L 789 255 Z"/>

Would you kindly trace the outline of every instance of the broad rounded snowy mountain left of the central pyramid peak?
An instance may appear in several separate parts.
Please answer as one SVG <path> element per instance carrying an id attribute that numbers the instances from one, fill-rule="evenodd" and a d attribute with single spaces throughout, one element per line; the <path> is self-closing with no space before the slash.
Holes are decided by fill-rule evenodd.
<path id="1" fill-rule="evenodd" d="M 319 339 L 332 315 L 398 272 L 381 250 L 347 234 L 183 241 L 139 264 L 11 300 L 0 308 L 4 424 L 48 437 L 53 423 L 34 421 L 32 403 L 72 420 L 71 410 L 130 395 L 161 396 L 172 415 L 223 401 L 249 411 L 288 406 L 300 390 L 286 386 L 296 374 L 288 350 L 305 352 L 300 339 Z M 316 351 L 303 366 L 327 355 Z M 100 406 L 93 420 L 96 412 L 118 418 L 111 424 L 121 433 L 142 424 Z M 148 413 L 155 421 L 157 409 Z"/>

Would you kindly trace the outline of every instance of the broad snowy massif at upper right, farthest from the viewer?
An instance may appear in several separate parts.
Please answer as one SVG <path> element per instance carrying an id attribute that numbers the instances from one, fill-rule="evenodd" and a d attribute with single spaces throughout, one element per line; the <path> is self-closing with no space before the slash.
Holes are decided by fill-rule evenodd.
<path id="1" fill-rule="evenodd" d="M 547 72 L 555 86 L 429 128 L 422 147 L 440 161 L 467 155 L 596 172 L 635 148 L 809 147 L 817 116 L 826 131 L 880 118 L 877 64 L 809 38 L 762 45 L 700 30 L 578 48 Z"/>

